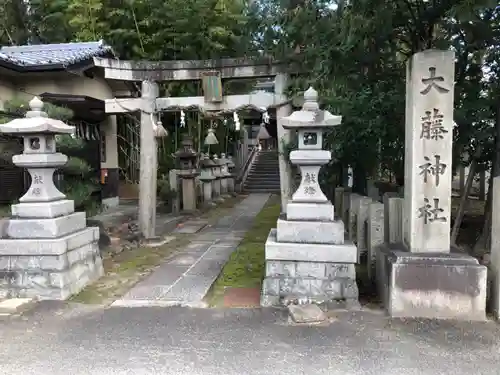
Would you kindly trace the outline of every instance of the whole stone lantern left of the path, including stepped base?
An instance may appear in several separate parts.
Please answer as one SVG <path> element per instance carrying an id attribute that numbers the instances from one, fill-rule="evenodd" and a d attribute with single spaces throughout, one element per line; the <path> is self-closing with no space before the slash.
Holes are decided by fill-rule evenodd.
<path id="1" fill-rule="evenodd" d="M 99 228 L 87 228 L 85 212 L 75 212 L 53 182 L 54 171 L 68 161 L 56 152 L 56 135 L 74 128 L 48 118 L 38 98 L 29 105 L 26 118 L 0 125 L 1 133 L 24 138 L 24 152 L 13 162 L 31 175 L 0 236 L 0 290 L 11 297 L 64 300 L 104 273 Z"/>

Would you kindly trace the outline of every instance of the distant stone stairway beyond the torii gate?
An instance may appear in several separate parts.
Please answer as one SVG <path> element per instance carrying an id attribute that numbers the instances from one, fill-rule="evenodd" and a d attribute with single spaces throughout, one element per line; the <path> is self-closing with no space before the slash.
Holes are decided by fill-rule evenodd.
<path id="1" fill-rule="evenodd" d="M 280 173 L 277 150 L 262 150 L 255 157 L 243 190 L 247 193 L 279 193 Z"/>

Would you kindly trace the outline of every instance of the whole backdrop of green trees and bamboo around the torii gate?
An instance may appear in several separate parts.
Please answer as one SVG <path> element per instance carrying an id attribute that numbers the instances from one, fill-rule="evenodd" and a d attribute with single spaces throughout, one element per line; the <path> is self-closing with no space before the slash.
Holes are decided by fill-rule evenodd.
<path id="1" fill-rule="evenodd" d="M 343 116 L 325 140 L 335 163 L 354 168 L 355 184 L 381 165 L 402 180 L 405 65 L 427 48 L 456 52 L 454 165 L 482 146 L 480 168 L 491 165 L 492 124 L 500 100 L 500 34 L 495 0 L 0 0 L 0 42 L 23 44 L 97 40 L 122 59 L 218 59 L 264 55 L 298 66 L 290 93 L 312 84 L 322 106 Z M 226 92 L 234 87 L 225 83 Z M 241 87 L 240 87 L 241 88 Z M 201 95 L 198 83 L 165 83 L 171 96 Z M 202 143 L 208 121 L 186 116 L 160 155 L 161 173 L 171 168 L 181 132 Z M 219 145 L 228 150 L 237 134 L 220 126 Z M 175 140 L 177 139 L 177 141 Z M 206 147 L 200 149 L 207 151 Z M 289 149 L 286 151 L 288 154 Z M 355 186 L 356 188 L 356 186 Z"/>

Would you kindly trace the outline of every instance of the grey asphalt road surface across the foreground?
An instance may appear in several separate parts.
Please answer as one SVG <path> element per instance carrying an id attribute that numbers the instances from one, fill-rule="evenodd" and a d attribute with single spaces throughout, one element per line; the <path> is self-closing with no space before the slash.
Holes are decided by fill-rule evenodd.
<path id="1" fill-rule="evenodd" d="M 499 325 L 339 313 L 293 326 L 275 309 L 45 303 L 0 321 L 9 375 L 494 375 Z"/>

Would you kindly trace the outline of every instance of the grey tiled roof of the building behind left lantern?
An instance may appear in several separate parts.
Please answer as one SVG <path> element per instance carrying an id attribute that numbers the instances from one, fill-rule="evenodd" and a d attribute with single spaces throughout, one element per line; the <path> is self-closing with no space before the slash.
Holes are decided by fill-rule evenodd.
<path id="1" fill-rule="evenodd" d="M 0 64 L 19 71 L 59 70 L 110 55 L 113 50 L 103 41 L 12 46 L 0 48 Z"/>

